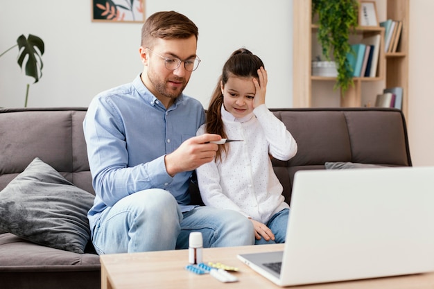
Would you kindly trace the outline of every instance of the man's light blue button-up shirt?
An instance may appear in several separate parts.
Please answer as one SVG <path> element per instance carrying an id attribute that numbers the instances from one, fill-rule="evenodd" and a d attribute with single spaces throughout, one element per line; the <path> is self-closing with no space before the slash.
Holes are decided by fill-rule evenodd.
<path id="1" fill-rule="evenodd" d="M 191 210 L 192 172 L 171 177 L 164 155 L 196 136 L 202 123 L 205 112 L 198 100 L 182 94 L 166 110 L 140 76 L 98 94 L 83 122 L 96 192 L 94 206 L 88 213 L 92 231 L 105 208 L 146 189 L 170 191 L 182 211 Z"/>

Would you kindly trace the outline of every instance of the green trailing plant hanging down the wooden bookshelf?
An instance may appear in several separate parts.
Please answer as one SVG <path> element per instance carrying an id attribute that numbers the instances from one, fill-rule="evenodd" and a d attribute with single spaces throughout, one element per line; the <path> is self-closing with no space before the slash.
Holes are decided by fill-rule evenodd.
<path id="1" fill-rule="evenodd" d="M 349 35 L 358 25 L 358 6 L 357 0 L 312 0 L 312 17 L 318 13 L 318 40 L 322 54 L 331 60 L 333 53 L 338 70 L 334 88 L 340 87 L 342 95 L 349 85 L 354 85 L 347 53 L 351 52 Z"/>

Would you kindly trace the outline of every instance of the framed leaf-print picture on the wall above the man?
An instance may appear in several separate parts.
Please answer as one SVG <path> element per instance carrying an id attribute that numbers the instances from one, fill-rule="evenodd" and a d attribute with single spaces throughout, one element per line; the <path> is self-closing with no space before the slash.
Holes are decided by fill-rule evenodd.
<path id="1" fill-rule="evenodd" d="M 94 22 L 145 21 L 145 0 L 92 0 Z"/>

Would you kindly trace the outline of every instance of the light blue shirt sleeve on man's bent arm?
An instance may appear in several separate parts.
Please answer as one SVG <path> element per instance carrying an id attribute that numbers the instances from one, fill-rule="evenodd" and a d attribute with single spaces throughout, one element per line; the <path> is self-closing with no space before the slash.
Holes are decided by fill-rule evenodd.
<path id="1" fill-rule="evenodd" d="M 107 206 L 127 195 L 150 188 L 162 188 L 173 178 L 168 175 L 164 155 L 146 164 L 128 167 L 128 150 L 121 116 L 104 99 L 89 105 L 83 122 L 92 184 Z"/>

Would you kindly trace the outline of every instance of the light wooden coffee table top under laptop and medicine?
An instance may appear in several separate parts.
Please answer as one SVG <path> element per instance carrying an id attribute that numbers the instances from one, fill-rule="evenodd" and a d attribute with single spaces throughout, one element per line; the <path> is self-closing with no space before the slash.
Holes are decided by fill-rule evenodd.
<path id="1" fill-rule="evenodd" d="M 252 271 L 236 258 L 237 254 L 279 251 L 284 245 L 256 245 L 204 249 L 204 262 L 223 263 L 237 267 L 235 283 L 222 283 L 209 274 L 194 274 L 185 269 L 189 265 L 188 250 L 107 254 L 101 256 L 101 288 L 281 288 Z M 290 287 L 297 288 L 297 287 Z M 303 289 L 372 289 L 372 288 L 434 288 L 434 272 L 401 277 L 366 279 L 300 286 Z"/>

